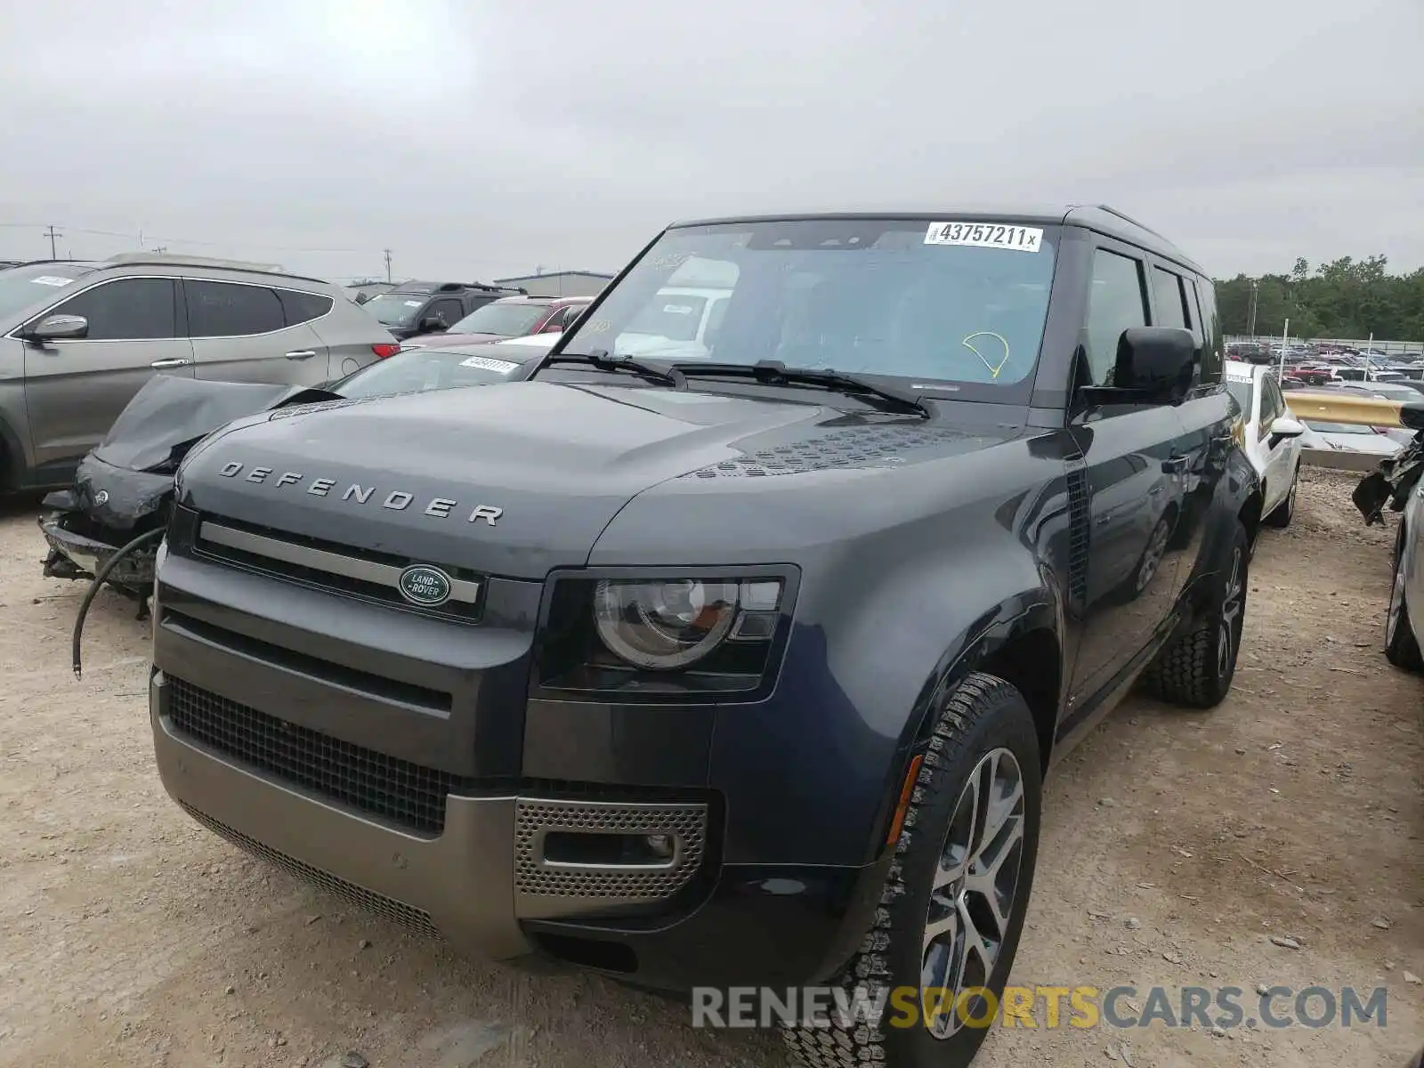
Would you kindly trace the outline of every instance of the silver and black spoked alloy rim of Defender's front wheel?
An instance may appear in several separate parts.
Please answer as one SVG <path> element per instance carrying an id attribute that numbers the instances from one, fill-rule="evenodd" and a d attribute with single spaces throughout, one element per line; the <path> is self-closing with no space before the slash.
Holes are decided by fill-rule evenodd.
<path id="1" fill-rule="evenodd" d="M 1018 901 L 1024 775 L 1008 749 L 980 758 L 954 805 L 934 869 L 920 956 L 920 1001 L 934 1038 L 987 1011 L 988 985 Z M 931 995 L 931 991 L 936 991 Z M 933 1011 L 938 1007 L 938 1011 Z"/>

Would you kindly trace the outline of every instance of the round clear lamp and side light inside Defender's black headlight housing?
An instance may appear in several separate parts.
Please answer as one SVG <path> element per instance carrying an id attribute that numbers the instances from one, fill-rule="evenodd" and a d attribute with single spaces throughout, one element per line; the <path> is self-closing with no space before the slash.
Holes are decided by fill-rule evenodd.
<path id="1" fill-rule="evenodd" d="M 615 656 L 645 671 L 696 664 L 723 641 L 766 641 L 776 627 L 782 584 L 671 578 L 602 580 L 594 624 Z"/>

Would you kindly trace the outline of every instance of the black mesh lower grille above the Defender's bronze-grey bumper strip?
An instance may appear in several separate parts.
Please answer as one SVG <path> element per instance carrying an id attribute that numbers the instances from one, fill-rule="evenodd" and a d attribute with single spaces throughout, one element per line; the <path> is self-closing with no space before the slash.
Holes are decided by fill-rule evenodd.
<path id="1" fill-rule="evenodd" d="M 463 776 L 289 723 L 172 676 L 168 718 L 178 733 L 245 765 L 429 834 L 444 830 L 446 795 L 470 785 Z"/>

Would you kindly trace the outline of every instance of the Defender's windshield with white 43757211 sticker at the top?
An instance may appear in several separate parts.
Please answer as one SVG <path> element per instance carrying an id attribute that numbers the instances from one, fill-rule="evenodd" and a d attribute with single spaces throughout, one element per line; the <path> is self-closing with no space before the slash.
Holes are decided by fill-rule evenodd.
<path id="1" fill-rule="evenodd" d="M 927 218 L 672 229 L 564 350 L 779 360 L 993 396 L 1037 366 L 1057 236 Z"/>

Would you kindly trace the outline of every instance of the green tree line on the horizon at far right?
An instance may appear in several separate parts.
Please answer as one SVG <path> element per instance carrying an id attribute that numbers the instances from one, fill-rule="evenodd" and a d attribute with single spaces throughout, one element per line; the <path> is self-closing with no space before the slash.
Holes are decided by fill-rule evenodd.
<path id="1" fill-rule="evenodd" d="M 1255 309 L 1253 309 L 1255 303 Z M 1227 335 L 1424 340 L 1424 268 L 1391 275 L 1384 256 L 1344 256 L 1312 269 L 1304 259 L 1286 275 L 1218 279 L 1216 306 Z"/>

